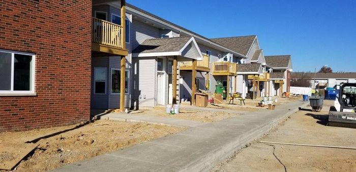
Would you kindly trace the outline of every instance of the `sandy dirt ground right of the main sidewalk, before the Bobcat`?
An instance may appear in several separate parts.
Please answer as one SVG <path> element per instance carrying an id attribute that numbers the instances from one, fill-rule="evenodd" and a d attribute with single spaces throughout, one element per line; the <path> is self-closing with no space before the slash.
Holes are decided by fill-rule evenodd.
<path id="1" fill-rule="evenodd" d="M 332 104 L 294 113 L 259 141 L 355 147 L 356 129 L 326 126 Z M 287 171 L 356 171 L 356 150 L 253 142 L 211 171 L 285 171 L 282 164 Z"/>

